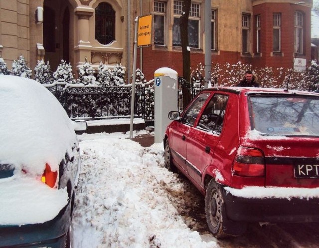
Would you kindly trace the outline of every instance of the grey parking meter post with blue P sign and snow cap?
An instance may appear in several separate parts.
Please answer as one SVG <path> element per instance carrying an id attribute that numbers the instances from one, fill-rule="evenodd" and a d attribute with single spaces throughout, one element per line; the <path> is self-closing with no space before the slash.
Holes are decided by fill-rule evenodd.
<path id="1" fill-rule="evenodd" d="M 154 106 L 154 142 L 161 143 L 167 125 L 169 111 L 177 111 L 178 83 L 177 72 L 162 67 L 155 71 L 155 106 Z"/>

